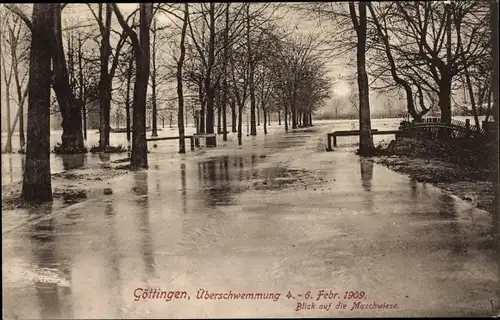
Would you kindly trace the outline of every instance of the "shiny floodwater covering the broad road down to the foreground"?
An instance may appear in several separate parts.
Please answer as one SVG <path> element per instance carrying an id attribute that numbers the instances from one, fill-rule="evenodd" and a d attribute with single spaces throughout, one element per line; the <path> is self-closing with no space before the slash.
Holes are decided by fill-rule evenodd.
<path id="1" fill-rule="evenodd" d="M 38 208 L 36 219 L 2 234 L 4 318 L 498 310 L 491 215 L 359 159 L 340 141 L 335 152 L 324 152 L 331 130 L 323 124 L 245 137 L 241 148 L 229 141 L 175 156 L 168 144 L 158 145 L 150 169 L 112 180 L 112 195 L 56 212 Z M 143 295 L 155 289 L 186 295 Z M 340 297 L 316 300 L 319 290 Z M 349 291 L 363 298 L 344 298 Z M 274 299 L 210 299 L 206 292 Z M 314 309 L 297 311 L 311 301 Z"/>

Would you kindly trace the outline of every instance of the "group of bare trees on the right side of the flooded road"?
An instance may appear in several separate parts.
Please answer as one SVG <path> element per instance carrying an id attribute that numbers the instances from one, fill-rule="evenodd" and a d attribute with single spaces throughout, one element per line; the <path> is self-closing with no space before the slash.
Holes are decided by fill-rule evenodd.
<path id="1" fill-rule="evenodd" d="M 403 90 L 407 110 L 419 121 L 437 106 L 443 122 L 452 117 L 452 93 L 466 86 L 476 125 L 478 106 L 492 108 L 494 75 L 492 30 L 496 1 L 397 1 L 295 5 L 313 19 L 330 22 L 330 49 L 340 55 L 356 49 L 361 141 L 373 149 L 369 88 Z M 496 21 L 497 21 L 496 20 Z M 343 32 L 339 32 L 342 30 Z M 355 39 L 353 41 L 353 39 Z M 369 78 L 371 79 L 369 81 Z M 497 121 L 498 119 L 495 118 Z"/>

